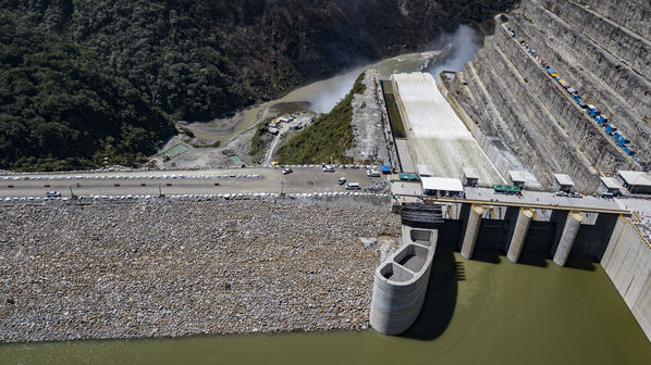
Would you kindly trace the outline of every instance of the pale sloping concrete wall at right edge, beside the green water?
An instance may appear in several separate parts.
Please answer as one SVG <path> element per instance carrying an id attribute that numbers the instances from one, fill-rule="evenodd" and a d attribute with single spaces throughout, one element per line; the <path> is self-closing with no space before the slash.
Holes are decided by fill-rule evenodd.
<path id="1" fill-rule="evenodd" d="M 651 243 L 621 218 L 601 265 L 651 341 Z"/>

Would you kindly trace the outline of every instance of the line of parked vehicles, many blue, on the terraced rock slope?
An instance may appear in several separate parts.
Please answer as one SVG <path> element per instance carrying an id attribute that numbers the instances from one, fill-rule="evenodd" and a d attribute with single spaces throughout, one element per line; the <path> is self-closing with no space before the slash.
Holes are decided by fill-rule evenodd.
<path id="1" fill-rule="evenodd" d="M 515 32 L 508 28 L 508 34 L 511 37 L 515 38 L 517 42 L 520 43 L 527 51 L 527 53 L 531 54 L 536 60 L 540 62 L 540 66 L 555 80 L 557 81 L 574 99 L 574 101 L 589 116 L 597 123 L 600 127 L 604 129 L 604 131 L 611 136 L 611 138 L 624 150 L 624 152 L 630 156 L 635 155 L 635 151 L 630 149 L 630 140 L 624 136 L 624 134 L 617 129 L 617 127 L 612 123 L 612 121 L 603 115 L 601 111 L 592 105 L 587 104 L 584 102 L 579 92 L 569 85 L 566 80 L 562 79 L 558 76 L 558 73 L 552 68 L 549 63 L 542 58 L 542 55 L 538 54 L 536 50 L 531 49 L 525 38 L 523 36 L 517 36 Z"/>

